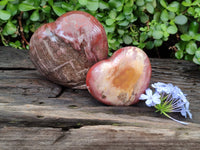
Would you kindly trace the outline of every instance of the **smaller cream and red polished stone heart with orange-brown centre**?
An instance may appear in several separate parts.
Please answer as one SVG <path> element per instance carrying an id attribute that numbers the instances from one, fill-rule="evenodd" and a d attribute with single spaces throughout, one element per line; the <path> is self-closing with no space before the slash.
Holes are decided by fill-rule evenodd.
<path id="1" fill-rule="evenodd" d="M 150 79 L 148 56 L 137 47 L 124 47 L 93 65 L 86 84 L 91 95 L 107 105 L 131 105 L 139 101 Z"/>

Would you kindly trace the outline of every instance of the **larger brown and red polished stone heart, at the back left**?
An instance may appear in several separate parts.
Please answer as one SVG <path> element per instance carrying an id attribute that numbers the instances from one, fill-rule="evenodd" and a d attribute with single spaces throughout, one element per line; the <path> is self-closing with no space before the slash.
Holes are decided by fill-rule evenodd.
<path id="1" fill-rule="evenodd" d="M 88 69 L 107 56 L 105 30 L 86 12 L 66 13 L 41 26 L 30 40 L 30 58 L 38 71 L 67 87 L 84 88 Z"/>

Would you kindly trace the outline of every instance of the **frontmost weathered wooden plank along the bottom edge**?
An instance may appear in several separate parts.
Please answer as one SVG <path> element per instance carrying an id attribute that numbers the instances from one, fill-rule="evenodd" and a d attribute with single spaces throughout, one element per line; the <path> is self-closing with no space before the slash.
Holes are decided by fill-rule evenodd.
<path id="1" fill-rule="evenodd" d="M 62 131 L 52 128 L 0 129 L 1 150 L 198 150 L 200 130 L 133 126 L 85 126 Z"/>

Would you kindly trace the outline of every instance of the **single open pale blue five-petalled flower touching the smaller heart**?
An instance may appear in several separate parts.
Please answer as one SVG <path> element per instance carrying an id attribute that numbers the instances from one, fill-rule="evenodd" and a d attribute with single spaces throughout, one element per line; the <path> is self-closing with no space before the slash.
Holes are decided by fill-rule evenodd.
<path id="1" fill-rule="evenodd" d="M 146 100 L 145 103 L 147 106 L 151 107 L 151 106 L 155 106 L 156 104 L 160 104 L 160 94 L 155 92 L 153 94 L 151 89 L 147 89 L 146 90 L 146 94 L 142 94 L 140 96 L 140 100 Z"/>

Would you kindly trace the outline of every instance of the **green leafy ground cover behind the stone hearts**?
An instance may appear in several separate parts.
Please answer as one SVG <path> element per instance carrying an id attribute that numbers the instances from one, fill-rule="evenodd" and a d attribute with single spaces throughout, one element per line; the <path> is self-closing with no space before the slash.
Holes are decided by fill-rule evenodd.
<path id="1" fill-rule="evenodd" d="M 1 0 L 0 45 L 27 48 L 42 24 L 72 10 L 104 26 L 109 55 L 127 45 L 200 64 L 200 0 Z"/>

